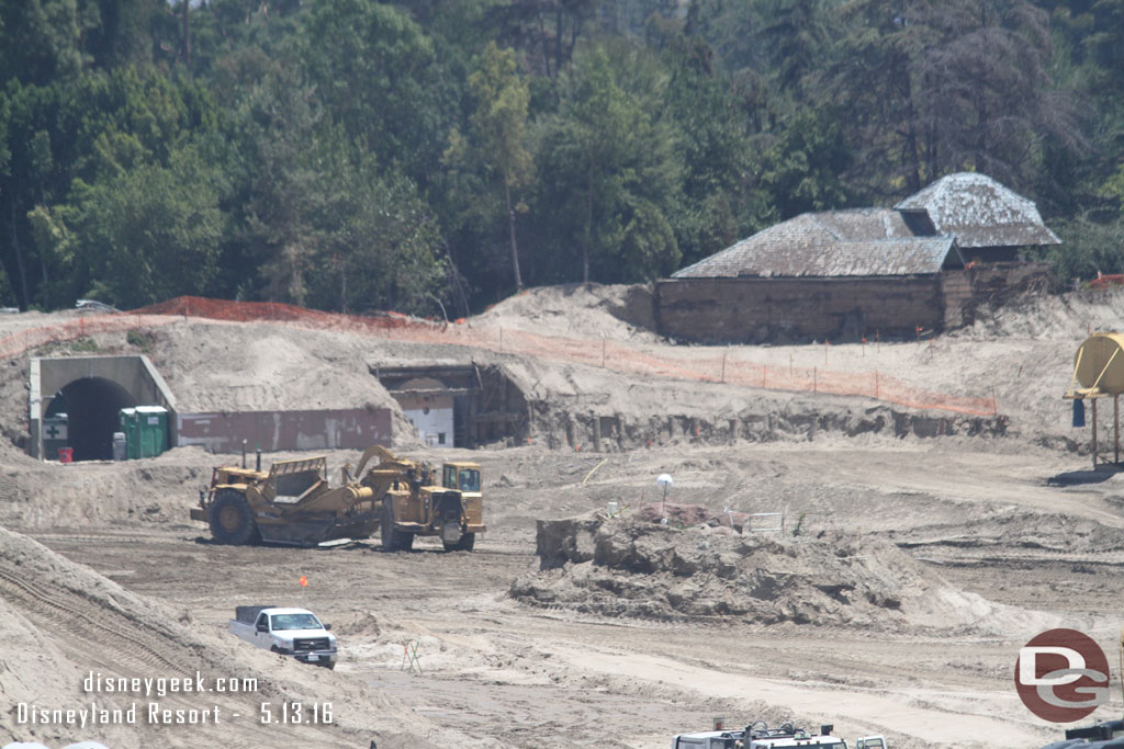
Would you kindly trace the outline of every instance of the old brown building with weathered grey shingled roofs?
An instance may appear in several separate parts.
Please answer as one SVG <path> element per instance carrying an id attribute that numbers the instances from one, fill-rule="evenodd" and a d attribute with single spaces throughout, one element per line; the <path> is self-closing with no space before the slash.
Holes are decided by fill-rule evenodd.
<path id="1" fill-rule="evenodd" d="M 656 284 L 661 332 L 692 340 L 913 337 L 1041 277 L 1030 246 L 1058 244 L 1034 203 L 952 174 L 894 209 L 804 213 Z"/>

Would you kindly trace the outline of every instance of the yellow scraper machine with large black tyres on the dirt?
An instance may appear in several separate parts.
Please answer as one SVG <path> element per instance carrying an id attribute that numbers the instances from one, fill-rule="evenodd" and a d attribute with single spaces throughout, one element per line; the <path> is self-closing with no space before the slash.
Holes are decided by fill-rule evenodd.
<path id="1" fill-rule="evenodd" d="M 191 519 L 206 522 L 216 541 L 234 545 L 316 546 L 378 530 L 384 551 L 409 549 L 415 536 L 438 537 L 446 551 L 471 551 L 487 530 L 477 463 L 445 463 L 438 476 L 428 463 L 375 445 L 354 475 L 350 466 L 341 473 L 342 485 L 329 486 L 324 456 L 278 460 L 268 472 L 260 455 L 254 469 L 219 466 Z"/>

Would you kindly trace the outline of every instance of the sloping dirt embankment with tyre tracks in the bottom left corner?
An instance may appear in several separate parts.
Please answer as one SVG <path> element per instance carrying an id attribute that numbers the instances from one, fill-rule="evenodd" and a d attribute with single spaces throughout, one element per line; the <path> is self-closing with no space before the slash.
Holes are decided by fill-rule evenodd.
<path id="1" fill-rule="evenodd" d="M 201 575 L 208 574 L 200 570 Z M 432 747 L 422 738 L 464 737 L 444 732 L 398 701 L 346 676 L 310 668 L 257 650 L 214 625 L 197 624 L 191 612 L 173 610 L 126 591 L 89 567 L 67 560 L 37 541 L 0 528 L 0 638 L 4 655 L 0 745 L 36 740 L 62 746 L 80 739 L 117 749 L 140 747 L 355 747 L 383 745 L 410 725 L 409 746 Z M 165 694 L 106 691 L 91 675 L 107 678 L 164 678 Z M 179 692 L 171 679 L 196 677 L 210 692 Z M 218 687 L 236 677 L 239 688 Z M 242 691 L 245 679 L 252 688 Z M 93 684 L 92 691 L 88 687 Z M 217 688 L 216 688 L 217 687 Z M 158 687 L 154 687 L 158 688 Z M 332 724 L 275 725 L 261 719 L 262 703 L 333 703 Z M 158 703 L 156 720 L 149 703 Z M 20 707 L 22 705 L 22 710 Z M 134 722 L 128 711 L 135 707 Z M 52 719 L 55 710 L 120 711 L 87 725 Z M 191 724 L 163 722 L 163 711 L 184 711 Z M 31 721 L 42 716 L 46 722 Z M 211 711 L 203 718 L 203 711 Z M 238 714 L 238 718 L 235 714 Z M 105 714 L 105 713 L 101 713 Z M 219 721 L 215 723 L 215 716 Z"/>

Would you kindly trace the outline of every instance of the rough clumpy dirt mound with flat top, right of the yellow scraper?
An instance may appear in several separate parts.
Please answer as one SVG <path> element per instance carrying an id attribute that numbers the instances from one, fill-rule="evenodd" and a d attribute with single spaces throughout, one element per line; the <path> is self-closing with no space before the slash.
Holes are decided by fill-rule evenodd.
<path id="1" fill-rule="evenodd" d="M 878 629 L 963 628 L 996 611 L 880 539 L 741 535 L 641 514 L 540 521 L 542 568 L 515 581 L 510 595 L 607 616 Z M 677 514 L 686 517 L 686 510 L 679 506 Z M 703 508 L 691 514 L 718 521 Z"/>

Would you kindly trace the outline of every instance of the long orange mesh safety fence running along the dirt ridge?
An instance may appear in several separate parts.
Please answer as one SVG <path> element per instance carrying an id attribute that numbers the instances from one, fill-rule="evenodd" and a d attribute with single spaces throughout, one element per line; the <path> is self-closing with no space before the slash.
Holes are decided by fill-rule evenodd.
<path id="1" fill-rule="evenodd" d="M 620 374 L 727 383 L 767 390 L 858 395 L 915 409 L 996 415 L 992 398 L 934 393 L 879 372 L 843 373 L 818 367 L 771 367 L 729 356 L 722 349 L 692 347 L 683 355 L 654 354 L 620 342 L 545 336 L 509 328 L 479 328 L 410 318 L 397 312 L 377 317 L 338 314 L 274 302 L 232 302 L 180 296 L 133 312 L 84 316 L 70 322 L 29 328 L 0 338 L 0 357 L 9 358 L 51 341 L 73 340 L 94 332 L 153 328 L 179 319 L 226 322 L 277 322 L 308 330 L 334 330 L 388 340 L 483 348 L 584 364 Z"/>

